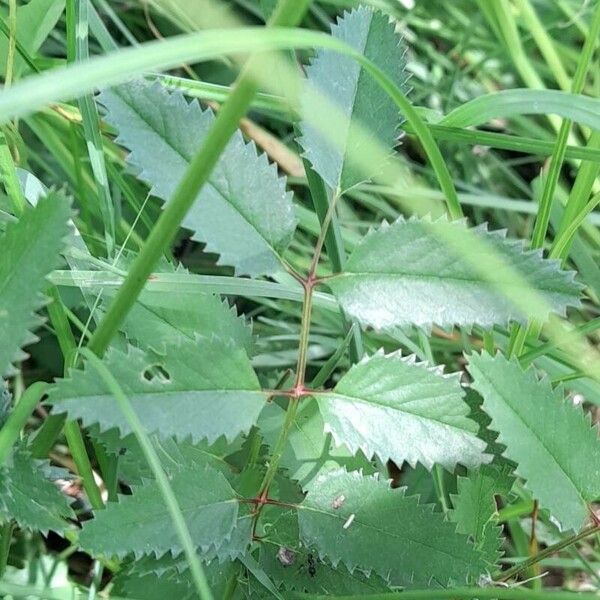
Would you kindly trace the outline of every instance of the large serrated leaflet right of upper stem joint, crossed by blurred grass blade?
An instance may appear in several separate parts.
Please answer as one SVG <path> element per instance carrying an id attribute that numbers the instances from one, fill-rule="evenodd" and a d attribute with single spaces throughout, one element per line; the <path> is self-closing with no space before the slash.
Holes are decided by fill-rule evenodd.
<path id="1" fill-rule="evenodd" d="M 351 317 L 390 329 L 545 321 L 579 304 L 573 277 L 504 231 L 401 217 L 369 233 L 326 282 Z"/>

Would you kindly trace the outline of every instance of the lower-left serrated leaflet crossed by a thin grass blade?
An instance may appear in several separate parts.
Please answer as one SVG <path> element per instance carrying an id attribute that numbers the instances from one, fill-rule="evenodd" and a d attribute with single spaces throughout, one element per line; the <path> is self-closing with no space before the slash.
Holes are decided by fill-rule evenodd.
<path id="1" fill-rule="evenodd" d="M 171 475 L 170 483 L 198 548 L 203 552 L 218 548 L 231 537 L 238 502 L 221 473 L 186 464 Z M 81 547 L 104 556 L 180 554 L 179 537 L 159 498 L 154 481 L 134 487 L 132 496 L 121 496 L 118 503 L 108 504 L 84 524 Z"/>

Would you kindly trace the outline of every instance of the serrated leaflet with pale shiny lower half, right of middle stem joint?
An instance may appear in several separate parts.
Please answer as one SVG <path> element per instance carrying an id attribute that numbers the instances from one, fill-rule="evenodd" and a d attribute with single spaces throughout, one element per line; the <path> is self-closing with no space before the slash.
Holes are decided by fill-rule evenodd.
<path id="1" fill-rule="evenodd" d="M 460 375 L 383 351 L 354 365 L 331 392 L 315 394 L 336 443 L 398 465 L 449 469 L 486 462 L 477 424 L 467 418 Z"/>

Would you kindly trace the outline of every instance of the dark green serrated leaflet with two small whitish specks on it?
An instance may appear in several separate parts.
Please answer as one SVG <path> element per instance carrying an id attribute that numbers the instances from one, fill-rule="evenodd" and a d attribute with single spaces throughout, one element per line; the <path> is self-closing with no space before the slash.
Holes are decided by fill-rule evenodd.
<path id="1" fill-rule="evenodd" d="M 432 506 L 377 477 L 343 470 L 317 477 L 299 507 L 300 537 L 334 565 L 373 570 L 403 587 L 464 583 L 484 567 L 467 537 Z"/>

